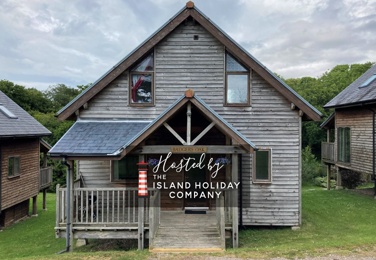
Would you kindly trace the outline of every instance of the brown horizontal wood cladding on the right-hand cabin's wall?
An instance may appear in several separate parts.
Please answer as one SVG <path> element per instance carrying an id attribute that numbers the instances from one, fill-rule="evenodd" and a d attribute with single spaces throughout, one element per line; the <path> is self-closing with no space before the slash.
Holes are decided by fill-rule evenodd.
<path id="1" fill-rule="evenodd" d="M 376 109 L 375 106 L 370 108 Z M 350 165 L 337 162 L 338 166 L 372 174 L 372 115 L 370 110 L 360 107 L 335 110 L 336 137 L 337 127 L 350 127 L 351 132 Z"/>

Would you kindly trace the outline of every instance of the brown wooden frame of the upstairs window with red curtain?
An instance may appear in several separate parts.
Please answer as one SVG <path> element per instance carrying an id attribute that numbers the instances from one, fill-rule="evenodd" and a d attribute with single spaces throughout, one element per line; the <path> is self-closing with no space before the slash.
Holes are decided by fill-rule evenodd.
<path id="1" fill-rule="evenodd" d="M 153 53 L 153 71 L 131 71 L 130 68 L 143 59 L 145 59 L 150 53 Z M 151 74 L 152 75 L 152 102 L 151 103 L 132 103 L 132 74 Z M 138 59 L 128 68 L 128 105 L 129 106 L 155 106 L 155 48 L 152 51 L 148 51 L 143 57 Z"/>

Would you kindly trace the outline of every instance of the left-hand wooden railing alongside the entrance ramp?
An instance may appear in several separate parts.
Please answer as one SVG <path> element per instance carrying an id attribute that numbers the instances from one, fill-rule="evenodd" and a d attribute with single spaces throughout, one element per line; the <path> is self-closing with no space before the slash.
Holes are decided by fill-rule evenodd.
<path id="1" fill-rule="evenodd" d="M 154 195 L 150 196 L 149 212 L 149 248 L 153 249 L 154 237 L 161 224 L 161 190 L 158 189 Z"/>

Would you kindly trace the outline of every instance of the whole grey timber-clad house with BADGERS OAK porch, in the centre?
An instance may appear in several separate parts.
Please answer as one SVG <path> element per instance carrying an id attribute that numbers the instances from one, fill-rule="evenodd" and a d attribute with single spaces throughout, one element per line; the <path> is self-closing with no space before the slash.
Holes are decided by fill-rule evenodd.
<path id="1" fill-rule="evenodd" d="M 238 246 L 238 225 L 298 226 L 301 123 L 320 116 L 190 1 L 58 112 L 76 122 L 50 150 L 69 177 L 56 190 L 56 237 L 67 238 L 67 250 L 73 238 L 133 238 L 139 249 L 149 239 L 154 252 L 213 252 L 225 238 Z M 167 165 L 202 153 L 206 164 L 231 162 L 215 176 L 149 165 L 149 197 L 138 197 L 136 163 L 170 152 Z M 160 189 L 155 174 L 169 187 L 192 185 Z M 215 188 L 214 198 L 171 197 L 213 191 L 194 185 L 205 182 L 240 186 Z"/>

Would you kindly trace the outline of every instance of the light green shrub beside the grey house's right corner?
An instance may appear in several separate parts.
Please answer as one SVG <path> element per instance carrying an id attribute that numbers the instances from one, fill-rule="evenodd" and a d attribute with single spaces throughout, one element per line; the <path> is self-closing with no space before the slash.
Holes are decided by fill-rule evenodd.
<path id="1" fill-rule="evenodd" d="M 311 148 L 308 146 L 302 150 L 302 178 L 306 182 L 313 182 L 314 178 L 320 177 L 319 163 Z"/>

